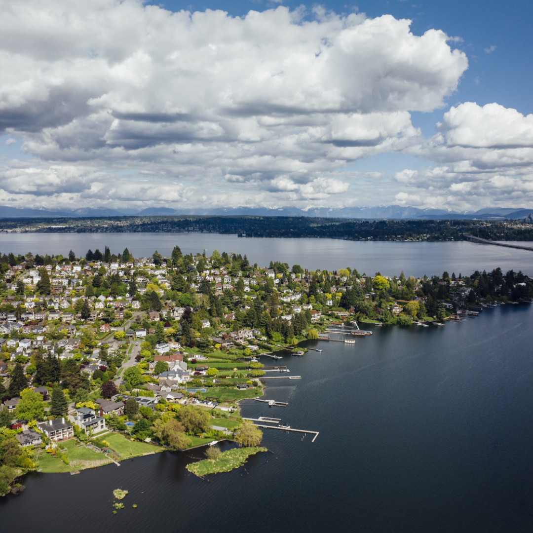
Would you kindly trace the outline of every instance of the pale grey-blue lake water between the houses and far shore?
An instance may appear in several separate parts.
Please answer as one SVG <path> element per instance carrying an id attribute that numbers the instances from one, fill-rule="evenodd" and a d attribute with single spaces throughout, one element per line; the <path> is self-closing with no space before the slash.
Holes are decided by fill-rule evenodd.
<path id="1" fill-rule="evenodd" d="M 533 252 L 469 243 L 467 241 L 441 243 L 362 242 L 340 239 L 281 239 L 238 238 L 236 235 L 215 233 L 2 233 L 0 251 L 15 255 L 35 254 L 67 255 L 72 249 L 85 255 L 91 248 L 103 251 L 109 246 L 118 254 L 128 248 L 135 257 L 151 256 L 157 251 L 164 256 L 179 245 L 184 253 L 202 252 L 205 248 L 247 254 L 249 261 L 259 266 L 270 261 L 286 262 L 292 267 L 300 264 L 310 270 L 357 268 L 360 273 L 383 276 L 432 276 L 443 271 L 468 274 L 474 270 L 492 270 L 498 266 L 504 272 L 513 269 L 533 276 Z M 519 243 L 529 246 L 528 243 Z"/>

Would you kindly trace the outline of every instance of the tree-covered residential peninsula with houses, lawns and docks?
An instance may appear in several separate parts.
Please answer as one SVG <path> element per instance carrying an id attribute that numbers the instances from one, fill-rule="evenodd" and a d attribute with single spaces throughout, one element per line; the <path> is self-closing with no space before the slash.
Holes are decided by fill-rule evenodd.
<path id="1" fill-rule="evenodd" d="M 532 297 L 531 278 L 500 269 L 431 278 L 310 271 L 179 246 L 167 257 L 107 246 L 84 257 L 4 254 L 0 494 L 20 491 L 29 471 L 75 474 L 223 440 L 242 448 L 212 447 L 189 470 L 231 470 L 262 450 L 239 401 L 260 399 L 268 372 L 286 372 L 279 353 L 355 346 L 370 333 L 359 324 L 444 325 Z M 330 338 L 340 329 L 344 340 Z"/>

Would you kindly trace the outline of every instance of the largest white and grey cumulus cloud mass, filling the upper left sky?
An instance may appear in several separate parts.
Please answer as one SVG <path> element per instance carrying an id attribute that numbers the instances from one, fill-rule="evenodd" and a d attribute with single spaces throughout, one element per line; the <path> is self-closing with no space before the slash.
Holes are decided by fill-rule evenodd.
<path id="1" fill-rule="evenodd" d="M 7 165 L 0 187 L 65 207 L 346 200 L 358 174 L 335 171 L 422 146 L 410 112 L 443 107 L 468 61 L 409 20 L 308 15 L 6 4 L 0 127 L 38 163 Z"/>

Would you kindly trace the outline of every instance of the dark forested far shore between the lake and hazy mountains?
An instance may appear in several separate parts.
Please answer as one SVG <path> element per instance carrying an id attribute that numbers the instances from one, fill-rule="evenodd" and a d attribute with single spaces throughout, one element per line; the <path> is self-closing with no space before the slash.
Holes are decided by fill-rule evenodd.
<path id="1" fill-rule="evenodd" d="M 117 233 L 202 232 L 242 237 L 312 237 L 349 240 L 463 240 L 464 233 L 491 240 L 533 241 L 524 221 L 349 220 L 281 216 L 121 216 L 4 219 L 0 232 Z"/>

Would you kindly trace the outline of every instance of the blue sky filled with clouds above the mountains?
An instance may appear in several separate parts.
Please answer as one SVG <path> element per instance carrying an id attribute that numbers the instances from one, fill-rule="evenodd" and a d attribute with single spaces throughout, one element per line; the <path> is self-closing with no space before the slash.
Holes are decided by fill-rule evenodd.
<path id="1" fill-rule="evenodd" d="M 533 204 L 531 2 L 2 4 L 1 205 Z"/>

